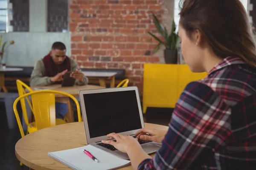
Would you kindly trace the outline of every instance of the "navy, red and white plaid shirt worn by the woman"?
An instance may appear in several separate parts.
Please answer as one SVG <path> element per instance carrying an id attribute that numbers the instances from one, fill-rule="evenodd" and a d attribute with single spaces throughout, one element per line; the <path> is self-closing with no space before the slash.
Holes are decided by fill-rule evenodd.
<path id="1" fill-rule="evenodd" d="M 256 70 L 227 57 L 189 83 L 162 147 L 139 170 L 256 170 Z"/>

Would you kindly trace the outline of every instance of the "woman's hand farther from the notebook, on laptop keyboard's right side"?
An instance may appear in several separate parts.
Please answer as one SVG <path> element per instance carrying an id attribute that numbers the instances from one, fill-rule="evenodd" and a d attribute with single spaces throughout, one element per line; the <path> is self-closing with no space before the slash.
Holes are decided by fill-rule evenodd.
<path id="1" fill-rule="evenodd" d="M 149 135 L 147 135 L 147 133 Z M 137 138 L 141 140 L 148 140 L 148 141 L 161 143 L 166 133 L 167 133 L 167 130 L 163 130 L 159 128 L 154 128 L 154 129 L 143 128 L 143 129 L 140 129 L 137 133 L 135 133 L 135 136 L 137 136 Z"/>

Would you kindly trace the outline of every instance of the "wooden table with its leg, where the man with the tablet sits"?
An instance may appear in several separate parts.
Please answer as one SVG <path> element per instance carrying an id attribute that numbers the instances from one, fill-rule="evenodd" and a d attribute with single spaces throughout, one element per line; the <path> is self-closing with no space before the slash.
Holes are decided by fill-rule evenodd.
<path id="1" fill-rule="evenodd" d="M 62 91 L 68 94 L 71 94 L 73 96 L 79 96 L 80 90 L 89 90 L 89 89 L 99 89 L 104 88 L 98 85 L 74 85 L 70 87 L 61 87 L 61 85 L 47 85 L 47 86 L 34 86 L 31 87 L 33 91 L 35 90 L 55 90 L 55 91 Z M 61 94 L 55 94 L 55 101 L 60 103 L 67 103 L 67 118 L 68 122 L 75 122 L 74 121 L 74 113 L 72 109 L 72 104 L 70 102 L 69 97 L 61 95 Z"/>

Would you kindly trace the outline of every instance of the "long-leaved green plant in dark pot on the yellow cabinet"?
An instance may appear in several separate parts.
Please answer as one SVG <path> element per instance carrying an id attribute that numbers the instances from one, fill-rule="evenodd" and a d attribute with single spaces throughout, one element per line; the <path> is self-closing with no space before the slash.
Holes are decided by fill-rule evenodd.
<path id="1" fill-rule="evenodd" d="M 157 31 L 160 33 L 160 35 L 164 39 L 164 40 L 160 40 L 160 38 L 158 38 L 157 36 L 155 36 L 151 32 L 148 32 L 148 34 L 150 34 L 152 37 L 154 37 L 154 39 L 156 39 L 159 42 L 157 44 L 157 46 L 154 48 L 153 54 L 155 54 L 159 50 L 160 45 L 163 44 L 166 47 L 166 49 L 164 50 L 164 59 L 165 59 L 166 64 L 177 64 L 176 44 L 177 44 L 177 40 L 178 40 L 178 35 L 175 32 L 176 31 L 176 26 L 175 26 L 174 20 L 172 22 L 171 33 L 168 34 L 168 31 L 167 31 L 166 27 L 164 27 L 160 23 L 160 21 L 155 16 L 155 14 L 152 14 L 152 16 L 153 16 L 154 25 L 156 26 Z"/>

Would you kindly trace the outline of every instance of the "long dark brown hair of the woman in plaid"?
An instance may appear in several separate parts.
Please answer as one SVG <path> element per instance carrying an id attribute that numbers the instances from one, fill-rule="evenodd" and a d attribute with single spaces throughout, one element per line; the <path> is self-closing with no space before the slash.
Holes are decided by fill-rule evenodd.
<path id="1" fill-rule="evenodd" d="M 215 55 L 239 56 L 256 68 L 256 46 L 239 0 L 181 0 L 180 26 L 191 38 L 199 30 Z"/>

